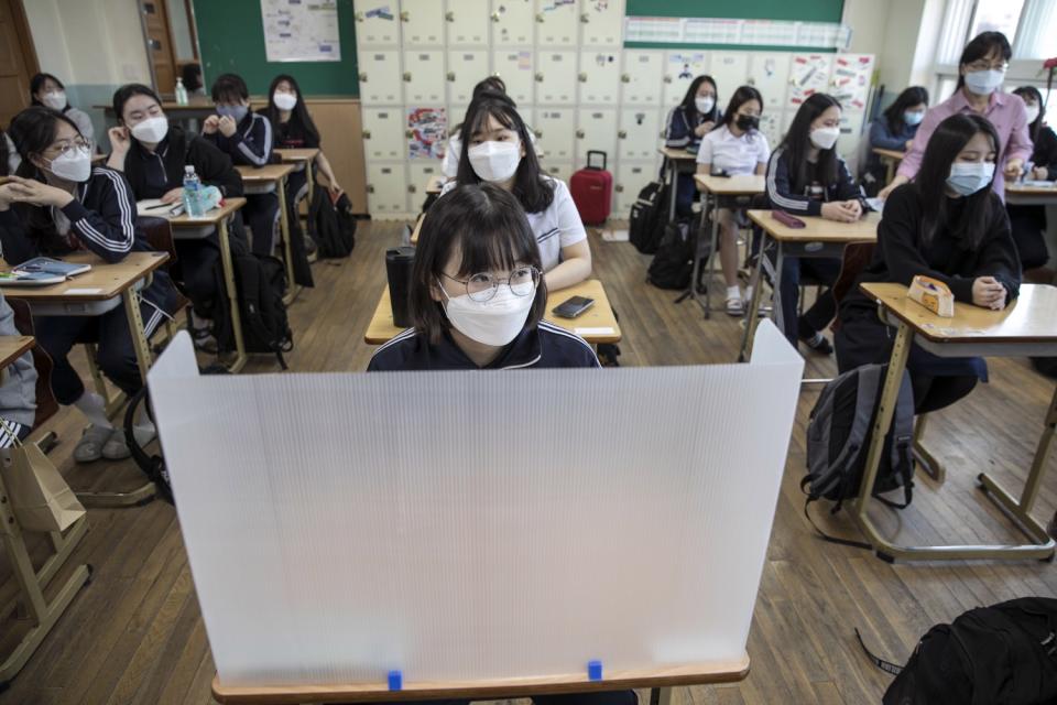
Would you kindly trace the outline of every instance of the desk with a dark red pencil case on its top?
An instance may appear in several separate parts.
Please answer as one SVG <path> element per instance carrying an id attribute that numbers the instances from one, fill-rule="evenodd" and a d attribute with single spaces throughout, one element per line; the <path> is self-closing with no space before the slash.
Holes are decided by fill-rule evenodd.
<path id="1" fill-rule="evenodd" d="M 791 228 L 774 219 L 770 210 L 750 210 L 749 219 L 763 229 L 760 243 L 760 262 L 752 272 L 752 301 L 749 311 L 745 330 L 741 338 L 741 350 L 738 361 L 749 359 L 752 351 L 752 337 L 755 333 L 756 318 L 760 311 L 761 271 L 764 267 L 772 269 L 771 260 L 766 257 L 767 249 L 774 243 L 775 259 L 771 281 L 774 283 L 774 322 L 778 330 L 784 332 L 782 322 L 782 265 L 786 257 L 833 258 L 841 259 L 844 246 L 849 242 L 873 242 L 878 239 L 878 224 L 881 223 L 880 213 L 868 213 L 865 218 L 854 223 L 837 223 L 820 216 L 795 216 L 804 221 L 803 228 Z"/>

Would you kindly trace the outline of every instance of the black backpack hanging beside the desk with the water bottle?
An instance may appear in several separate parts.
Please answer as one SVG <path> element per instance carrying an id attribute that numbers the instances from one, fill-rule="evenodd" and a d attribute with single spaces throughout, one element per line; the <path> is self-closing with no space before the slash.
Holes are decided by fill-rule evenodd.
<path id="1" fill-rule="evenodd" d="M 239 238 L 230 239 L 231 264 L 242 318 L 242 340 L 247 352 L 274 352 L 285 370 L 283 352 L 294 349 L 293 333 L 286 318 L 286 268 L 274 257 L 250 252 Z M 214 336 L 220 350 L 235 350 L 235 328 L 227 305 L 228 288 L 219 262 L 215 270 L 219 301 L 213 316 Z"/>

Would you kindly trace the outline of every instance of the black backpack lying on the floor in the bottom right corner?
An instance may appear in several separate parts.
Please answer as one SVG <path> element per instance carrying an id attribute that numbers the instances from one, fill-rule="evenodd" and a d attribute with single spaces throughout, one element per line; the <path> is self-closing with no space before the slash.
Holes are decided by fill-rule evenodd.
<path id="1" fill-rule="evenodd" d="M 970 609 L 929 629 L 903 668 L 862 648 L 896 674 L 884 705 L 1057 703 L 1057 599 L 1021 597 Z"/>

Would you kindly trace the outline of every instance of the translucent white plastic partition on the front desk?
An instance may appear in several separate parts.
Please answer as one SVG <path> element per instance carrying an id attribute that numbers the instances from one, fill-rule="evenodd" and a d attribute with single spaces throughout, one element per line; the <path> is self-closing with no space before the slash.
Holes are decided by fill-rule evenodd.
<path id="1" fill-rule="evenodd" d="M 151 393 L 221 683 L 742 659 L 803 359 L 199 376 Z"/>

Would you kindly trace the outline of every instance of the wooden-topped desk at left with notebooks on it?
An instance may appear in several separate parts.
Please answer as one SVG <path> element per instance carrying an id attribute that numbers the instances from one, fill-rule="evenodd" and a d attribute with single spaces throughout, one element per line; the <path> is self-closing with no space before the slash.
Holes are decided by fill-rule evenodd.
<path id="1" fill-rule="evenodd" d="M 130 252 L 123 260 L 112 264 L 89 252 L 75 252 L 63 259 L 91 264 L 91 269 L 59 284 L 4 286 L 4 295 L 28 303 L 34 317 L 98 316 L 123 304 L 140 378 L 145 384 L 152 356 L 140 315 L 139 291 L 146 286 L 154 270 L 168 260 L 168 254 Z M 7 264 L 3 268 L 8 269 Z M 97 388 L 106 391 L 101 373 L 92 362 L 91 355 L 88 357 Z M 103 398 L 107 398 L 106 394 Z M 119 399 L 108 399 L 107 402 L 108 412 L 120 405 Z M 86 507 L 131 507 L 150 501 L 154 492 L 154 482 L 149 481 L 131 492 L 77 492 L 77 497 Z"/>

